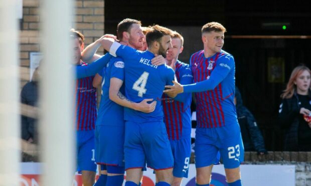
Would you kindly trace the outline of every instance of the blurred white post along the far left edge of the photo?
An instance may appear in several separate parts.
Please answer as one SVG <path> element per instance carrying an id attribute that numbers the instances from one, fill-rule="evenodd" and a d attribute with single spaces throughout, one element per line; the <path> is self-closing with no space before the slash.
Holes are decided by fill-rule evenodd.
<path id="1" fill-rule="evenodd" d="M 20 185 L 18 16 L 15 0 L 0 0 L 0 185 Z"/>

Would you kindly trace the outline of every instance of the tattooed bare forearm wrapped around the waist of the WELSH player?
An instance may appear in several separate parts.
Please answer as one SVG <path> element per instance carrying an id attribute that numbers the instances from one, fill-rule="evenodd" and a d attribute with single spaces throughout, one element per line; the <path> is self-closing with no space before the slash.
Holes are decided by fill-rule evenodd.
<path id="1" fill-rule="evenodd" d="M 125 106 L 128 108 L 132 108 L 134 110 L 142 111 L 142 112 L 152 112 L 156 108 L 157 101 L 152 101 L 153 99 L 143 99 L 141 102 L 136 103 L 127 99 L 119 90 L 123 84 L 123 80 L 112 77 L 110 79 L 110 87 L 109 87 L 109 98 L 115 103 Z M 151 103 L 147 103 L 147 101 L 152 101 Z"/>

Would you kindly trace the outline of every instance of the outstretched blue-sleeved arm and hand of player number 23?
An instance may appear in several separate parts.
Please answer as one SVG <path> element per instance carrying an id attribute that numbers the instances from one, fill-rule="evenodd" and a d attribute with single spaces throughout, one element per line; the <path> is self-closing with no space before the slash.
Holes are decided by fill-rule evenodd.
<path id="1" fill-rule="evenodd" d="M 214 89 L 221 81 L 224 80 L 233 67 L 233 65 L 229 66 L 227 63 L 222 61 L 219 61 L 219 63 L 223 65 L 218 64 L 212 71 L 209 79 L 186 85 L 182 85 L 179 82 L 173 81 L 174 85 L 166 85 L 165 87 L 168 89 L 164 90 L 164 92 L 201 92 Z"/>

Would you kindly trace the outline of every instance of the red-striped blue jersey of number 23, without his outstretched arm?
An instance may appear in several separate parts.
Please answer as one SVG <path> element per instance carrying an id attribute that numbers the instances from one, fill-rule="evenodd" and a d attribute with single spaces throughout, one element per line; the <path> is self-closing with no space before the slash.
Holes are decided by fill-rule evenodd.
<path id="1" fill-rule="evenodd" d="M 190 65 L 195 83 L 209 79 L 213 75 L 223 78 L 214 89 L 195 93 L 197 127 L 211 128 L 237 124 L 236 108 L 233 102 L 235 88 L 233 56 L 221 50 L 206 58 L 204 50 L 201 50 L 191 56 Z"/>

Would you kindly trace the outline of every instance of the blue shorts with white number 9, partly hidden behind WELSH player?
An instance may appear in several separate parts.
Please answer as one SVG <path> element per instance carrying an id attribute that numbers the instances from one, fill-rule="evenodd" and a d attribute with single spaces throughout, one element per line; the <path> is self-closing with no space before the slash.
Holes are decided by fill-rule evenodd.
<path id="1" fill-rule="evenodd" d="M 173 157 L 175 177 L 188 177 L 188 169 L 191 155 L 191 136 L 179 140 L 170 140 Z"/>

